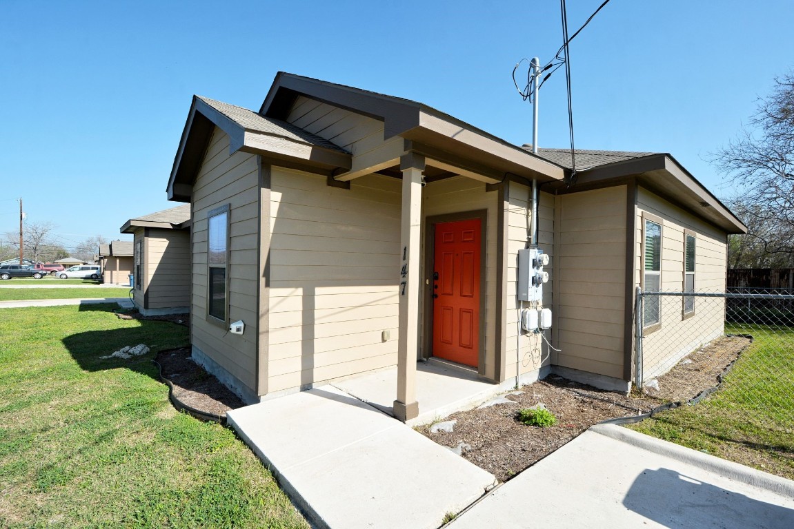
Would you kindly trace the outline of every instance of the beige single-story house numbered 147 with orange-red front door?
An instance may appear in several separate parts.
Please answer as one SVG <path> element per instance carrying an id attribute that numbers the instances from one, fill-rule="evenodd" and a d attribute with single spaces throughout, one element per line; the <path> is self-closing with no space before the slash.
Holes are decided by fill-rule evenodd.
<path id="1" fill-rule="evenodd" d="M 283 72 L 258 111 L 195 96 L 167 188 L 191 205 L 193 357 L 249 402 L 397 366 L 401 420 L 417 360 L 628 391 L 634 289 L 723 287 L 745 228 L 671 155 L 577 151 L 575 182 L 569 156 Z"/>

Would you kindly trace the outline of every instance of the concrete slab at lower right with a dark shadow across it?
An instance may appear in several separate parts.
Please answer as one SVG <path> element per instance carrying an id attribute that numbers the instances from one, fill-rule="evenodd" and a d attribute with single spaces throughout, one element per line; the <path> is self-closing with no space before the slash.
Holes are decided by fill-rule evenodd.
<path id="1" fill-rule="evenodd" d="M 482 527 L 791 529 L 794 481 L 599 424 L 449 525 Z"/>

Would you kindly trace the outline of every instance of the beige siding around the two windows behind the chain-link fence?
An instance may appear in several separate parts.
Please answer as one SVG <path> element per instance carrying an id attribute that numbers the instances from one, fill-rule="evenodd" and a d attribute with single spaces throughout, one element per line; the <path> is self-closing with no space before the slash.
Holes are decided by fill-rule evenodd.
<path id="1" fill-rule="evenodd" d="M 727 263 L 727 234 L 704 220 L 651 193 L 638 190 L 636 285 L 642 280 L 642 213 L 662 219 L 661 289 L 684 290 L 684 230 L 695 232 L 695 289 L 697 292 L 724 292 Z M 644 378 L 649 379 L 672 367 L 693 349 L 723 334 L 724 301 L 695 298 L 695 315 L 682 318 L 680 297 L 662 298 L 661 328 L 642 341 Z"/>

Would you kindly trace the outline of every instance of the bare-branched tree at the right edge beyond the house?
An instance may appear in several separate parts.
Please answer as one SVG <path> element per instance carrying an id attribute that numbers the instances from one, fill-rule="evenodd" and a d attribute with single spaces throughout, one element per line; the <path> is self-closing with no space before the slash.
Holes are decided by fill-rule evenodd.
<path id="1" fill-rule="evenodd" d="M 750 232 L 731 240 L 730 265 L 794 265 L 794 72 L 775 78 L 744 129 L 712 162 L 735 190 L 728 202 Z M 772 266 L 769 263 L 774 263 Z"/>

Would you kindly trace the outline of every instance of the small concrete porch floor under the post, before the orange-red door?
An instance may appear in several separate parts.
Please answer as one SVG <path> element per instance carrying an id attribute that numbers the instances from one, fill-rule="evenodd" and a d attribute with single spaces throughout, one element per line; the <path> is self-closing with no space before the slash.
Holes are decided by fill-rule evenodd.
<path id="1" fill-rule="evenodd" d="M 365 373 L 341 381 L 333 386 L 372 404 L 391 416 L 397 397 L 397 368 Z M 430 424 L 464 409 L 474 408 L 496 393 L 511 389 L 480 379 L 476 373 L 436 362 L 418 362 L 416 366 L 416 400 L 419 416 L 407 424 Z"/>

